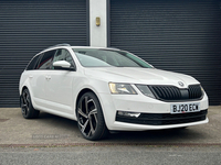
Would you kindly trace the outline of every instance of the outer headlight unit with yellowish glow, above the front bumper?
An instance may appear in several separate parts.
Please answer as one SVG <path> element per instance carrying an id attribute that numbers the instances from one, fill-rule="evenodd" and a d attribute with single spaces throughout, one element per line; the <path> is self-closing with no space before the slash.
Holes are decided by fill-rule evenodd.
<path id="1" fill-rule="evenodd" d="M 137 95 L 135 89 L 129 84 L 109 82 L 109 89 L 112 94 Z"/>

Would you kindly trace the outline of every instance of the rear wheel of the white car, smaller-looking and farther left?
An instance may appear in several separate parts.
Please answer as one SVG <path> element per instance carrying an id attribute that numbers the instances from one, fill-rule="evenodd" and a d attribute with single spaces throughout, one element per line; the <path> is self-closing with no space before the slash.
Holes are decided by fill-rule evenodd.
<path id="1" fill-rule="evenodd" d="M 24 119 L 38 118 L 40 111 L 33 108 L 29 89 L 24 89 L 22 91 L 20 99 L 21 99 L 21 113 L 23 118 Z"/>

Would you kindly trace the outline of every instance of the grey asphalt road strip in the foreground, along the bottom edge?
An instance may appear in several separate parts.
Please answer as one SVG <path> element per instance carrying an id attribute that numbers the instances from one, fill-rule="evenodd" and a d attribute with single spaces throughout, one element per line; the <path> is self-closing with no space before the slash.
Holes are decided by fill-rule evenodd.
<path id="1" fill-rule="evenodd" d="M 0 147 L 0 165 L 220 165 L 221 146 Z"/>

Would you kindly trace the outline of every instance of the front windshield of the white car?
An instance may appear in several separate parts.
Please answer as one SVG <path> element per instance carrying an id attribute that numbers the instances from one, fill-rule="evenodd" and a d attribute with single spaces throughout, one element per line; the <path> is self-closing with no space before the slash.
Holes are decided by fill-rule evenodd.
<path id="1" fill-rule="evenodd" d="M 73 48 L 76 57 L 84 67 L 145 67 L 151 65 L 137 56 L 123 51 L 98 48 Z"/>

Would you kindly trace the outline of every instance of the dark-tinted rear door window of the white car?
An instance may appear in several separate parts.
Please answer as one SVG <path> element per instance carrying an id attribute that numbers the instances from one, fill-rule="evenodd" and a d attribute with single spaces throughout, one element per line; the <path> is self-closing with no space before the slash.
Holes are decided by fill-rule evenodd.
<path id="1" fill-rule="evenodd" d="M 55 50 L 45 52 L 41 62 L 39 63 L 39 69 L 50 69 L 54 57 Z"/>

